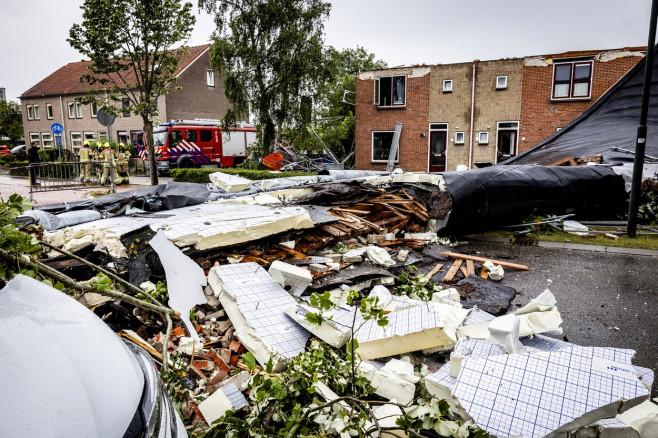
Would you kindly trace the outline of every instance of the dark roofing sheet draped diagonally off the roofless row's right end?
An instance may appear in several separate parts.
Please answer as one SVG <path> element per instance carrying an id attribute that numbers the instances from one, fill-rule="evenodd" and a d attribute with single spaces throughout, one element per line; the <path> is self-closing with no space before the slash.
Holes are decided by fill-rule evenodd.
<path id="1" fill-rule="evenodd" d="M 654 53 L 658 52 L 655 50 Z M 646 59 L 646 58 L 645 58 Z M 552 164 L 567 157 L 603 154 L 605 163 L 633 161 L 640 121 L 645 59 L 611 87 L 587 111 L 552 137 L 503 164 Z M 646 155 L 658 156 L 658 57 L 654 57 L 647 118 Z"/>

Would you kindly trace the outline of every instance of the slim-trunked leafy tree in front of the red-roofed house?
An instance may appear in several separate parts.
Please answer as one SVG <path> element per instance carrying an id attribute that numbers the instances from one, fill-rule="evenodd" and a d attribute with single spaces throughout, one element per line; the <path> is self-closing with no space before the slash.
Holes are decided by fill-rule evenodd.
<path id="1" fill-rule="evenodd" d="M 158 183 L 153 149 L 153 121 L 158 98 L 174 89 L 178 62 L 195 23 L 192 4 L 180 0 L 85 0 L 82 24 L 74 24 L 68 42 L 92 61 L 80 80 L 111 113 L 132 111 L 144 122 L 151 184 Z M 100 85 L 100 87 L 98 86 Z M 101 99 L 99 90 L 108 93 Z M 124 106 L 122 98 L 128 98 Z M 119 103 L 121 103 L 119 105 Z"/>

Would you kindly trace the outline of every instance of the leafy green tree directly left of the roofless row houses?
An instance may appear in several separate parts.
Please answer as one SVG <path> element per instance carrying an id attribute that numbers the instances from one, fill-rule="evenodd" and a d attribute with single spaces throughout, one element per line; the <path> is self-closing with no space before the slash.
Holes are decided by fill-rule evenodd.
<path id="1" fill-rule="evenodd" d="M 386 68 L 386 62 L 375 59 L 363 47 L 330 48 L 333 79 L 325 84 L 316 102 L 314 123 L 324 147 L 337 156 L 354 147 L 355 76 L 364 70 Z"/>

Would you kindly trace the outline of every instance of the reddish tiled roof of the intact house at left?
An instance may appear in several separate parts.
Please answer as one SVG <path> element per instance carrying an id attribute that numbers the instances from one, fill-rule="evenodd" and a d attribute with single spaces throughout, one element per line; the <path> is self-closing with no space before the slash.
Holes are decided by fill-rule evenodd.
<path id="1" fill-rule="evenodd" d="M 178 63 L 178 71 L 176 76 L 181 74 L 190 64 L 192 64 L 199 56 L 205 53 L 210 47 L 209 44 L 203 46 L 188 47 L 188 51 L 182 56 Z M 20 97 L 21 99 L 27 97 L 43 97 L 43 96 L 60 96 L 68 94 L 82 94 L 86 90 L 103 90 L 106 85 L 94 84 L 89 85 L 84 81 L 80 81 L 83 75 L 91 74 L 89 66 L 92 61 L 72 62 L 59 68 L 54 73 L 41 80 L 32 88 L 24 92 Z M 115 78 L 117 80 L 118 76 Z M 134 81 L 134 73 L 129 70 L 125 74 L 125 82 L 131 83 Z M 120 80 L 119 80 L 120 81 Z"/>

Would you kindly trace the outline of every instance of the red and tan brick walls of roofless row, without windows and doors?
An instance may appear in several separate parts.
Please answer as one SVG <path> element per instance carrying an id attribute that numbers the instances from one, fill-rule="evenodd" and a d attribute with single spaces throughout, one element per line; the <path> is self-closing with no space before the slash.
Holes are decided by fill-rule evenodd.
<path id="1" fill-rule="evenodd" d="M 502 158 L 498 142 L 503 129 L 518 129 L 515 132 L 516 145 L 517 152 L 521 153 L 550 137 L 557 127 L 565 126 L 589 108 L 642 59 L 641 50 L 640 47 L 566 52 L 525 59 L 400 67 L 360 73 L 356 78 L 356 168 L 386 168 L 385 163 L 372 160 L 372 133 L 392 131 L 396 122 L 403 123 L 399 166 L 405 171 L 429 169 L 430 124 L 447 124 L 447 171 L 455 170 L 460 164 L 475 167 L 479 162 L 498 162 Z M 553 61 L 556 59 L 594 59 L 590 98 L 551 100 Z M 373 104 L 375 79 L 390 76 L 407 77 L 404 108 L 380 108 Z M 497 88 L 499 76 L 507 77 L 506 88 Z M 443 91 L 444 80 L 452 81 L 452 91 Z M 504 122 L 509 122 L 511 127 L 499 130 L 499 123 Z M 457 132 L 464 133 L 464 144 L 455 144 Z M 478 142 L 480 132 L 488 133 L 488 143 Z"/>

